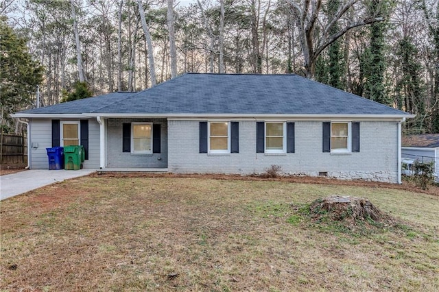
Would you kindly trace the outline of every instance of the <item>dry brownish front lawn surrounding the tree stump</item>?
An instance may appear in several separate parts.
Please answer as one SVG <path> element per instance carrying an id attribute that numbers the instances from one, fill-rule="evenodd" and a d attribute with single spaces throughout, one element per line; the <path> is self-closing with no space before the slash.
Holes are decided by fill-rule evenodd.
<path id="1" fill-rule="evenodd" d="M 296 208 L 368 197 L 351 234 Z M 0 291 L 438 291 L 439 197 L 282 181 L 88 176 L 1 202 Z"/>

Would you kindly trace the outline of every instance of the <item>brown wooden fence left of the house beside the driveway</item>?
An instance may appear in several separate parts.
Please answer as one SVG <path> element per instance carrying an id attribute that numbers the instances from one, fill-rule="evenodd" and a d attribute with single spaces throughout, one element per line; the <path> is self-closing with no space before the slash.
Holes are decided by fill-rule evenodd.
<path id="1" fill-rule="evenodd" d="M 1 132 L 0 164 L 12 165 L 27 163 L 27 136 L 21 134 L 5 134 Z"/>

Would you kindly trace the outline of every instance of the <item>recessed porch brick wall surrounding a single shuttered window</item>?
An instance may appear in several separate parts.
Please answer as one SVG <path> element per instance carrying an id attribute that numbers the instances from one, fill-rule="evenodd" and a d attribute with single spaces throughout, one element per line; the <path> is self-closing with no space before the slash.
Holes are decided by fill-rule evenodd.
<path id="1" fill-rule="evenodd" d="M 106 167 L 167 167 L 167 121 L 165 119 L 108 119 Z M 122 152 L 122 124 L 133 122 L 161 124 L 161 153 L 131 154 Z"/>

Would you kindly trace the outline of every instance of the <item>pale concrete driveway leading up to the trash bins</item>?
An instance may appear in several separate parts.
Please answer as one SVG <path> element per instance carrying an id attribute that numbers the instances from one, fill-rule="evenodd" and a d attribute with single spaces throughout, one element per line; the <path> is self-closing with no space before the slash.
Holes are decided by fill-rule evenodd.
<path id="1" fill-rule="evenodd" d="M 78 178 L 95 171 L 95 169 L 80 169 L 77 171 L 32 169 L 0 175 L 0 201 L 14 195 L 32 191 L 41 186 L 62 182 L 69 178 Z"/>

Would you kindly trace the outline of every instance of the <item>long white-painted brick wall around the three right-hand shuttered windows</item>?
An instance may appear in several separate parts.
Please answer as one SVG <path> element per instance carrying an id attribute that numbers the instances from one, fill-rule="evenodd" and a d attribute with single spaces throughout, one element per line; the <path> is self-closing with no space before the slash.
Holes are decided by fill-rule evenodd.
<path id="1" fill-rule="evenodd" d="M 239 122 L 239 154 L 199 153 L 199 121 L 168 121 L 168 169 L 175 173 L 262 173 L 281 165 L 284 173 L 397 182 L 397 122 L 361 121 L 360 152 L 322 152 L 322 122 L 296 121 L 296 153 L 256 153 L 256 121 Z"/>

